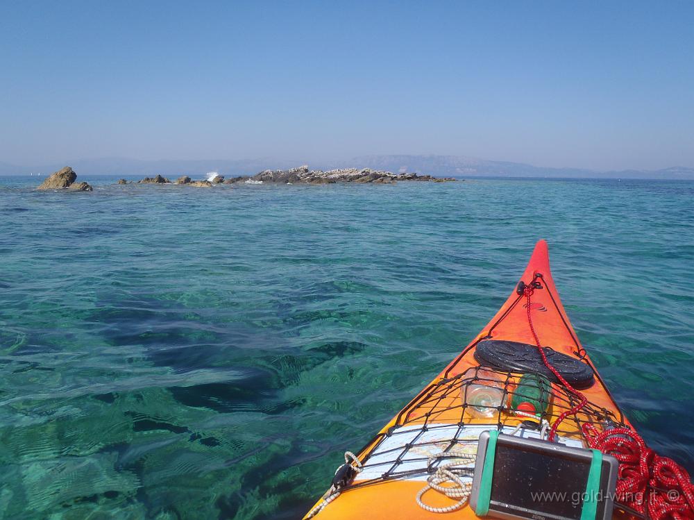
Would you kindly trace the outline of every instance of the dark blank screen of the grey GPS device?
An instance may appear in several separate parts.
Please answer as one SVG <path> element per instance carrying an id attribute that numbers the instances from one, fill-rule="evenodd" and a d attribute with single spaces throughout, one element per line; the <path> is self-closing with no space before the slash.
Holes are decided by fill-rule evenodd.
<path id="1" fill-rule="evenodd" d="M 532 517 L 517 509 L 525 508 L 579 520 L 590 469 L 590 460 L 498 442 L 491 505 L 519 516 Z"/>

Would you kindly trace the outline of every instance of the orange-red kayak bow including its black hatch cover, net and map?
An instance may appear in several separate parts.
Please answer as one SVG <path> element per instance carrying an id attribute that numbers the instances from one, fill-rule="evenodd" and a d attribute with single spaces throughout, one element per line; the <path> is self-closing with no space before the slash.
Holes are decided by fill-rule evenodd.
<path id="1" fill-rule="evenodd" d="M 532 301 L 523 292 L 528 284 L 534 284 Z M 544 352 L 552 365 L 581 388 L 586 404 L 577 412 L 571 412 L 579 403 L 577 394 L 537 363 L 533 328 L 541 345 L 549 347 Z M 518 394 L 518 385 L 523 385 L 523 374 L 531 372 L 546 377 L 543 385 L 551 396 L 528 397 L 523 406 L 509 404 L 514 389 Z M 541 395 L 543 385 L 531 389 Z M 450 478 L 443 485 L 434 479 L 431 485 L 441 452 L 455 453 L 462 464 L 474 458 L 482 431 L 517 433 L 527 428 L 542 438 L 561 414 L 568 417 L 559 421 L 557 437 L 568 446 L 589 447 L 586 425 L 595 433 L 631 428 L 570 324 L 550 272 L 547 243 L 541 240 L 521 284 L 489 324 L 356 456 L 346 454 L 333 485 L 305 518 L 441 519 L 441 512 L 477 518 L 466 503 L 467 481 Z M 446 492 L 450 485 L 461 491 Z"/>

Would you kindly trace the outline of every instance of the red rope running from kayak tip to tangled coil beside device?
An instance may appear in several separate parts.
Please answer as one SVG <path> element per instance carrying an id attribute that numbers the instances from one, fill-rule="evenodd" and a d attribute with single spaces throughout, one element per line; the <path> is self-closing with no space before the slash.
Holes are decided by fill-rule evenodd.
<path id="1" fill-rule="evenodd" d="M 526 299 L 527 323 L 542 361 L 545 367 L 550 369 L 552 374 L 555 374 L 569 392 L 580 401 L 557 417 L 550 429 L 551 441 L 555 438 L 561 421 L 579 412 L 588 400 L 572 387 L 547 359 L 532 325 L 530 297 L 533 292 L 532 283 L 525 285 L 523 294 Z M 646 446 L 638 433 L 629 428 L 612 428 L 598 433 L 591 423 L 584 423 L 582 430 L 591 448 L 598 449 L 602 453 L 609 453 L 619 461 L 616 489 L 618 503 L 635 510 L 638 514 L 647 514 L 652 520 L 694 519 L 694 485 L 686 469 L 672 459 L 657 455 Z"/>

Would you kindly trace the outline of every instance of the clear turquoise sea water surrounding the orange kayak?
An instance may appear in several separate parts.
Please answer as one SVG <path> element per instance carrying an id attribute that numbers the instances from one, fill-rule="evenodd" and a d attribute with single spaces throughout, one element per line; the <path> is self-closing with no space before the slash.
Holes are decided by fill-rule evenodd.
<path id="1" fill-rule="evenodd" d="M 2 518 L 301 517 L 541 237 L 618 403 L 694 469 L 694 183 L 80 180 L 0 178 Z"/>

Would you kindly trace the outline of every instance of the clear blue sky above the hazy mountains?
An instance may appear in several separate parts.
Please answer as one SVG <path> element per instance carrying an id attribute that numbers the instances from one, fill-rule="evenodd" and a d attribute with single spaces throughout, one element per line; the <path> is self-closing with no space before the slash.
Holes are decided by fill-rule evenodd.
<path id="1" fill-rule="evenodd" d="M 0 161 L 694 166 L 694 2 L 0 2 Z"/>

